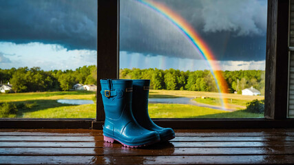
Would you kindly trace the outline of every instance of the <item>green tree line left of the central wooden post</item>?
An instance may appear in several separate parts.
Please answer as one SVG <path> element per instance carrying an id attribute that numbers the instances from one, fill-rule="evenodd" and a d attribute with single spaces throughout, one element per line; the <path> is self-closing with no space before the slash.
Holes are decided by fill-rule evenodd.
<path id="1" fill-rule="evenodd" d="M 67 69 L 43 71 L 40 67 L 12 67 L 0 69 L 1 83 L 12 85 L 19 92 L 30 91 L 68 91 L 76 83 L 97 84 L 97 67 L 95 65 Z"/>

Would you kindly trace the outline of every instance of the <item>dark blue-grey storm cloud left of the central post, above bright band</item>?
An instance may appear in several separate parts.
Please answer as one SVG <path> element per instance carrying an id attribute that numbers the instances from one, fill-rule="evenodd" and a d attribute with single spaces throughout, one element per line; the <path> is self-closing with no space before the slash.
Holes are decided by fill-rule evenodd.
<path id="1" fill-rule="evenodd" d="M 94 0 L 0 0 L 0 41 L 96 50 Z"/>

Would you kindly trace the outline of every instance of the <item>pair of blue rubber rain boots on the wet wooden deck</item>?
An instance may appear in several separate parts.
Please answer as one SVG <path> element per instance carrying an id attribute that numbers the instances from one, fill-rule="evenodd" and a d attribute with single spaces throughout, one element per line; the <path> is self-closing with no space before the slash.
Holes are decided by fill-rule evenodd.
<path id="1" fill-rule="evenodd" d="M 175 137 L 174 130 L 162 128 L 149 118 L 150 80 L 101 79 L 100 83 L 106 142 L 137 148 Z"/>

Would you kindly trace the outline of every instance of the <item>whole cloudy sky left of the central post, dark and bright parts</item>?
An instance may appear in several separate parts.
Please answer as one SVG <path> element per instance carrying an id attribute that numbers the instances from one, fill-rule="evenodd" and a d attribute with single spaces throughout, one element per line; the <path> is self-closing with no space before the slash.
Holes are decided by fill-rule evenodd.
<path id="1" fill-rule="evenodd" d="M 95 0 L 0 0 L 0 68 L 96 65 Z"/>

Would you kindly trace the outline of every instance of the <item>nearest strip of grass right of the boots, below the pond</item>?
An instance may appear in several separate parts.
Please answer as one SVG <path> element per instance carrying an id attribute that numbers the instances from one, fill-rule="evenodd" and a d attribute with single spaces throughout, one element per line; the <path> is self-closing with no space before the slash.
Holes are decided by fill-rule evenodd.
<path id="1" fill-rule="evenodd" d="M 260 113 L 221 111 L 188 104 L 149 104 L 151 118 L 263 118 Z"/>

